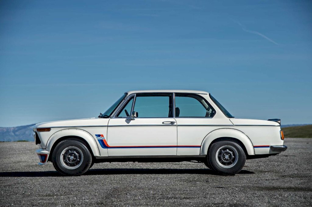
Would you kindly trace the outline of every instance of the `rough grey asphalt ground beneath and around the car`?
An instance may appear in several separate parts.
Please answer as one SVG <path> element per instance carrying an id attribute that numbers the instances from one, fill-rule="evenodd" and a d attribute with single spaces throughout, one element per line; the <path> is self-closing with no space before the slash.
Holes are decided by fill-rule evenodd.
<path id="1" fill-rule="evenodd" d="M 0 143 L 1 206 L 311 206 L 312 139 L 247 160 L 234 176 L 202 163 L 100 163 L 65 177 L 38 166 L 33 142 Z"/>

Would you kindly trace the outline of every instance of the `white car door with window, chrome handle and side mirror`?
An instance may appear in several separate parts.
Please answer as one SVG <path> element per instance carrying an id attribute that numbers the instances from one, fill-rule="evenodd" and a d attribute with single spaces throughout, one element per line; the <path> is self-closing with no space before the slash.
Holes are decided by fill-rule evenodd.
<path id="1" fill-rule="evenodd" d="M 133 113 L 138 116 L 131 120 Z M 106 141 L 108 156 L 176 155 L 173 94 L 130 95 L 110 119 Z"/>

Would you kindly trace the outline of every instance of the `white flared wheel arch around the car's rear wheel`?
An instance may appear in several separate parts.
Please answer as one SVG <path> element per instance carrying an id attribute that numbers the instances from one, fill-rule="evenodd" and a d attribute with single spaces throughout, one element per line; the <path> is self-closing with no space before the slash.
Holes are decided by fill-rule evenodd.
<path id="1" fill-rule="evenodd" d="M 254 155 L 255 150 L 253 148 L 253 144 L 251 143 L 250 139 L 246 136 L 246 134 L 242 133 L 237 129 L 216 129 L 207 134 L 207 136 L 202 141 L 202 146 L 200 149 L 201 155 L 206 155 L 208 148 L 213 140 L 221 138 L 221 137 L 228 137 L 228 138 L 235 138 L 240 140 L 248 153 L 248 155 Z"/>

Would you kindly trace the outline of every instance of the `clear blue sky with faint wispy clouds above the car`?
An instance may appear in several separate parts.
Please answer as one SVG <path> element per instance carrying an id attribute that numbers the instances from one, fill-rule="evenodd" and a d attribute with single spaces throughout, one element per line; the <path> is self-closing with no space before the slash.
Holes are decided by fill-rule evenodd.
<path id="1" fill-rule="evenodd" d="M 312 123 L 311 1 L 1 1 L 0 126 L 197 89 L 237 118 Z"/>

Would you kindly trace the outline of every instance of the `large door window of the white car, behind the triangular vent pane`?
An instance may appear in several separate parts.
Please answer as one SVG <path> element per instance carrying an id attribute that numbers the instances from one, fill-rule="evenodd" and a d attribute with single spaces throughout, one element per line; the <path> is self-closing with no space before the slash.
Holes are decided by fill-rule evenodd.
<path id="1" fill-rule="evenodd" d="M 173 117 L 172 94 L 137 94 L 133 110 L 138 118 Z"/>

